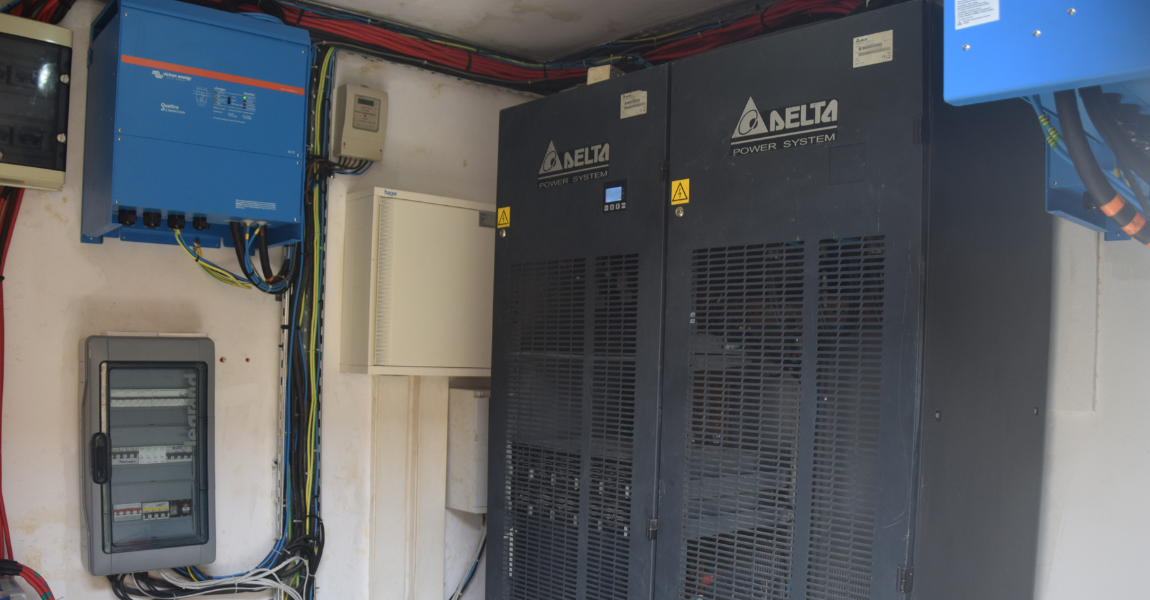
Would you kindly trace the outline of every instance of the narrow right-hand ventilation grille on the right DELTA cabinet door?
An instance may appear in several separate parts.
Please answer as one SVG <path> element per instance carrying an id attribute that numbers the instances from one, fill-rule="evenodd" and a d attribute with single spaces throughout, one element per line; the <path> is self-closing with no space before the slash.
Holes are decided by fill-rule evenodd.
<path id="1" fill-rule="evenodd" d="M 819 244 L 808 599 L 871 597 L 883 236 Z"/>

